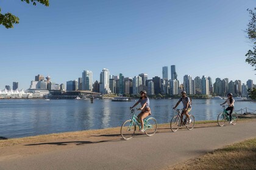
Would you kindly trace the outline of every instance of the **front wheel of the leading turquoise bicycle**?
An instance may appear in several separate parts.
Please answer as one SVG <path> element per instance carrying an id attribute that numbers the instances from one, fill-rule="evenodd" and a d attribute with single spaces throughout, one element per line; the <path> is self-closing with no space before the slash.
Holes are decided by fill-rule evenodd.
<path id="1" fill-rule="evenodd" d="M 124 140 L 129 140 L 135 134 L 136 125 L 132 120 L 126 120 L 121 126 L 121 136 Z"/>

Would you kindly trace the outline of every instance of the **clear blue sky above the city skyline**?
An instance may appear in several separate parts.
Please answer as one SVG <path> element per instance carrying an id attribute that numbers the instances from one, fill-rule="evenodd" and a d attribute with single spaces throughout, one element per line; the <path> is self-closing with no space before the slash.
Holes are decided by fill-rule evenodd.
<path id="1" fill-rule="evenodd" d="M 171 65 L 180 83 L 184 75 L 256 83 L 244 32 L 255 0 L 49 1 L 0 0 L 1 13 L 20 18 L 14 29 L 0 25 L 1 90 L 13 81 L 28 89 L 38 74 L 66 85 L 91 70 L 99 81 L 103 68 L 151 79 L 168 66 L 171 78 Z"/>

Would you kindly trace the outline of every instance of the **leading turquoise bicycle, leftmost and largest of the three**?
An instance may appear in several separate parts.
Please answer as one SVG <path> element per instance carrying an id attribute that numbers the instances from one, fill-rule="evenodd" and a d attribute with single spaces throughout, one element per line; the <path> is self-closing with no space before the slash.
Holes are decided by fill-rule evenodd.
<path id="1" fill-rule="evenodd" d="M 137 109 L 138 110 L 138 109 Z M 138 117 L 135 115 L 135 109 L 130 110 L 131 118 L 124 121 L 121 126 L 121 136 L 124 140 L 129 140 L 133 137 L 136 131 L 136 126 L 141 129 L 141 123 L 138 122 Z M 148 136 L 152 136 L 157 131 L 157 120 L 154 117 L 144 118 L 144 131 Z"/>

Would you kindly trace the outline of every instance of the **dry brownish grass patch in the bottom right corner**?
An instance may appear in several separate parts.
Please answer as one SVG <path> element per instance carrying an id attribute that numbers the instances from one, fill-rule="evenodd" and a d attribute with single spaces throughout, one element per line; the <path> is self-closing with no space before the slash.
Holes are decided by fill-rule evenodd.
<path id="1" fill-rule="evenodd" d="M 256 138 L 216 149 L 166 170 L 180 169 L 256 169 Z"/>

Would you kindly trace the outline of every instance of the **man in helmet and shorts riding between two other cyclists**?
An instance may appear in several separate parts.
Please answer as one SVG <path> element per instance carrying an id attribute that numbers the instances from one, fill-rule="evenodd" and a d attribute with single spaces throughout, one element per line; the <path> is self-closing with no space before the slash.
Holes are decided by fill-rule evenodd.
<path id="1" fill-rule="evenodd" d="M 180 115 L 181 117 L 181 121 L 183 120 L 183 115 L 185 114 L 186 117 L 188 118 L 188 124 L 191 123 L 191 119 L 190 119 L 190 115 L 188 114 L 191 111 L 191 103 L 190 103 L 190 98 L 187 97 L 187 92 L 182 91 L 180 93 L 182 95 L 182 97 L 180 98 L 180 100 L 177 102 L 177 104 L 172 108 L 172 109 L 176 109 L 176 107 L 180 104 L 180 101 L 182 101 L 183 103 L 183 110 L 182 110 L 182 114 Z"/>

